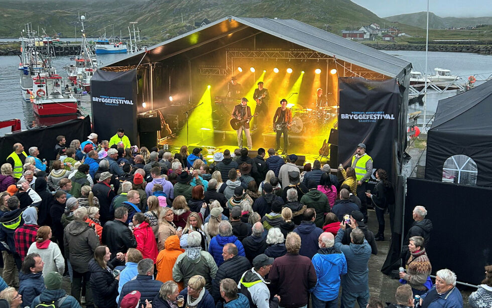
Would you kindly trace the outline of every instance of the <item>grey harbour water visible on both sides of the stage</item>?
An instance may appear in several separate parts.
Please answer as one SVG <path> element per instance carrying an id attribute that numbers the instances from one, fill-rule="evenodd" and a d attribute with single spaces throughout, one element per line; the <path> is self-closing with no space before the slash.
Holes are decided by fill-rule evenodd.
<path id="1" fill-rule="evenodd" d="M 402 58 L 412 63 L 413 69 L 422 73 L 425 72 L 425 52 L 422 51 L 384 51 L 388 54 Z M 110 63 L 117 58 L 125 57 L 126 54 L 102 54 L 97 55 L 99 66 L 104 63 Z M 22 128 L 32 128 L 42 125 L 50 125 L 61 122 L 65 119 L 59 117 L 39 118 L 37 117 L 30 102 L 22 98 L 21 88 L 19 85 L 18 65 L 20 58 L 18 56 L 0 56 L 0 120 L 21 119 Z M 53 59 L 53 64 L 59 75 L 64 80 L 66 71 L 64 66 L 70 65 L 73 61 L 68 56 L 60 56 Z M 477 73 L 492 72 L 492 56 L 479 55 L 471 53 L 449 53 L 449 52 L 429 52 L 427 73 L 434 74 L 434 68 L 446 68 L 451 70 L 453 75 L 466 76 Z M 456 90 L 445 93 L 429 91 L 427 95 L 427 114 L 426 122 L 434 115 L 439 99 L 443 99 L 456 94 Z M 90 114 L 90 95 L 80 95 L 77 97 L 81 101 L 81 112 L 83 115 Z M 411 102 L 409 112 L 423 111 L 422 101 Z M 73 119 L 74 117 L 72 117 Z M 68 119 L 66 119 L 68 120 Z M 423 117 L 418 120 L 419 126 L 423 124 Z M 0 135 L 9 132 L 9 128 L 0 129 Z"/>

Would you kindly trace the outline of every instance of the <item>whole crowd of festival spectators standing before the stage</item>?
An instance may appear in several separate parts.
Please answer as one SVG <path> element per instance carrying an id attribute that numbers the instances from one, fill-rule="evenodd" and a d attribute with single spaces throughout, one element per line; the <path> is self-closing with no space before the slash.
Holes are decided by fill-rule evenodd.
<path id="1" fill-rule="evenodd" d="M 201 148 L 132 147 L 122 129 L 110 141 L 97 137 L 67 147 L 58 136 L 51 162 L 16 143 L 1 166 L 0 306 L 383 307 L 370 298 L 368 262 L 394 197 L 382 169 L 365 189 L 373 170 L 364 144 L 350 166 L 331 169 L 318 160 L 298 166 L 297 155 L 285 161 L 274 149 L 207 161 Z M 462 307 L 452 271 L 430 280 L 426 215 L 413 211 L 391 307 L 413 307 L 415 295 L 422 307 Z M 485 270 L 473 307 L 492 302 Z"/>

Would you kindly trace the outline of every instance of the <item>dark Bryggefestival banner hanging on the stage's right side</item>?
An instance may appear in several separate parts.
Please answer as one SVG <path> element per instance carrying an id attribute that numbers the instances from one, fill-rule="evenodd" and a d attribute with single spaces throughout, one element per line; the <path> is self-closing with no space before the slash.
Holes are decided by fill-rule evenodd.
<path id="1" fill-rule="evenodd" d="M 364 143 L 366 153 L 373 158 L 374 169 L 369 183 L 376 184 L 375 171 L 379 168 L 385 169 L 388 178 L 392 179 L 402 104 L 396 78 L 340 77 L 338 88 L 338 160 L 349 166 L 357 144 Z"/>

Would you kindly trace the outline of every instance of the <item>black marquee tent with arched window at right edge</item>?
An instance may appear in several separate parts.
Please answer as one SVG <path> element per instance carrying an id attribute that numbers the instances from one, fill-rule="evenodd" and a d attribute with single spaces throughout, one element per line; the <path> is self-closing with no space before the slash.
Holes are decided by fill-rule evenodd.
<path id="1" fill-rule="evenodd" d="M 427 137 L 425 178 L 492 186 L 490 115 L 492 80 L 440 100 Z"/>

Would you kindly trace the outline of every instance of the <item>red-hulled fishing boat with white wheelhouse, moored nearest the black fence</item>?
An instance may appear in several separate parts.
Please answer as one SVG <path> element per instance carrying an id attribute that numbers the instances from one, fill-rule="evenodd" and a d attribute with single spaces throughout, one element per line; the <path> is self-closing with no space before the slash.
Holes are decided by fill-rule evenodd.
<path id="1" fill-rule="evenodd" d="M 33 78 L 31 102 L 40 117 L 77 114 L 77 99 L 70 88 L 62 91 L 61 81 L 60 75 L 49 73 L 40 73 Z"/>

